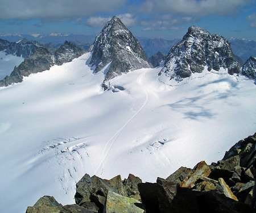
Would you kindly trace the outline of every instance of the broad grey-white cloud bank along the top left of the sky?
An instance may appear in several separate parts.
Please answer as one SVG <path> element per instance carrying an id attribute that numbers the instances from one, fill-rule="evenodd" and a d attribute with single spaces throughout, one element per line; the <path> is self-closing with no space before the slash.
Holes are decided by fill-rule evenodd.
<path id="1" fill-rule="evenodd" d="M 126 0 L 0 0 L 0 19 L 61 20 L 117 12 Z"/>

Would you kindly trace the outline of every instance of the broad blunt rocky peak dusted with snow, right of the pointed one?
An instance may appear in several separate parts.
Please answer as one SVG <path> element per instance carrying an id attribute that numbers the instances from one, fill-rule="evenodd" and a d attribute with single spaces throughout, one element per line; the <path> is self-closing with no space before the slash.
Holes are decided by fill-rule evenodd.
<path id="1" fill-rule="evenodd" d="M 229 74 L 240 73 L 240 65 L 234 59 L 228 40 L 192 26 L 183 40 L 171 48 L 159 75 L 166 74 L 170 79 L 181 81 L 192 73 L 203 72 L 206 65 L 208 71 L 218 71 L 222 67 L 228 69 Z"/>

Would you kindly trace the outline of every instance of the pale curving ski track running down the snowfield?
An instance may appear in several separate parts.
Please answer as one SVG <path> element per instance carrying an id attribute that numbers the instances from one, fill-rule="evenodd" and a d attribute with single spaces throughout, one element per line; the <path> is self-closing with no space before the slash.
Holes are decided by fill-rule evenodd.
<path id="1" fill-rule="evenodd" d="M 142 78 L 145 76 L 146 74 L 146 70 L 144 70 L 144 72 L 137 78 L 137 83 L 139 83 L 139 85 L 141 85 L 142 89 L 144 90 L 144 93 L 146 95 L 146 100 L 144 101 L 143 105 L 141 106 L 141 108 L 139 108 L 139 110 L 137 112 L 135 112 L 135 114 L 133 116 L 131 116 L 131 118 L 117 131 L 114 133 L 114 135 L 108 140 L 108 142 L 106 143 L 106 145 L 104 146 L 104 149 L 103 149 L 103 156 L 102 157 L 102 160 L 100 162 L 100 164 L 98 165 L 98 168 L 96 169 L 96 172 L 95 174 L 101 176 L 102 173 L 103 173 L 103 164 L 104 164 L 104 161 L 106 159 L 106 157 L 108 157 L 108 154 L 109 154 L 109 151 L 110 149 L 113 147 L 114 143 L 115 143 L 115 140 L 117 139 L 117 137 L 119 136 L 119 134 L 122 132 L 122 130 L 127 126 L 127 124 L 130 123 L 130 121 L 144 108 L 144 106 L 146 106 L 147 104 L 147 101 L 148 101 L 148 93 L 147 93 L 147 90 L 144 89 L 143 85 L 142 85 Z M 100 170 L 102 171 L 100 174 Z"/>

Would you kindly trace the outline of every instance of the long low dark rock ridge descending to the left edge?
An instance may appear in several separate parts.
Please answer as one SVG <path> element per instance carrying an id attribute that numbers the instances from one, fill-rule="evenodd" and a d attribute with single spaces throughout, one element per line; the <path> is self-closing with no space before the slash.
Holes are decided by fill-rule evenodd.
<path id="1" fill-rule="evenodd" d="M 18 67 L 15 66 L 10 76 L 6 76 L 0 81 L 0 86 L 8 86 L 13 83 L 22 82 L 24 76 L 49 70 L 49 68 L 55 64 L 62 65 L 65 62 L 70 62 L 83 53 L 84 51 L 80 47 L 68 41 L 65 41 L 65 43 L 56 50 L 54 55 L 44 47 L 37 47 L 36 51 L 30 57 L 24 59 Z"/>

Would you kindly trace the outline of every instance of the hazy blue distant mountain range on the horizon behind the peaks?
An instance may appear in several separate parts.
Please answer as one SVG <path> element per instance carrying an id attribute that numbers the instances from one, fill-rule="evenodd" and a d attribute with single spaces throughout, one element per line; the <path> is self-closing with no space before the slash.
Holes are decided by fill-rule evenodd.
<path id="1" fill-rule="evenodd" d="M 43 44 L 49 44 L 50 47 L 59 48 L 66 40 L 83 48 L 87 51 L 93 43 L 96 35 L 74 35 L 74 34 L 15 34 L 15 35 L 0 35 L 0 39 L 8 41 L 19 41 L 20 39 L 34 40 Z M 146 52 L 147 57 L 155 55 L 158 51 L 167 54 L 171 47 L 178 43 L 181 39 L 166 40 L 166 39 L 149 39 L 146 37 L 137 37 L 139 43 Z M 246 39 L 229 39 L 234 55 L 240 57 L 237 61 L 242 65 L 250 56 L 256 56 L 256 41 Z"/>

